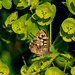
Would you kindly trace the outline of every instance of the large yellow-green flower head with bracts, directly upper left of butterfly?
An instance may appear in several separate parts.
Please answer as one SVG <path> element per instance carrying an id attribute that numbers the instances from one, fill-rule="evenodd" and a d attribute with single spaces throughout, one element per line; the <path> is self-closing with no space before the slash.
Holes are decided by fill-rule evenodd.
<path id="1" fill-rule="evenodd" d="M 27 13 L 12 24 L 12 30 L 15 33 L 21 34 L 19 39 L 29 39 L 29 37 L 27 38 L 27 33 L 30 33 L 35 28 L 35 22 L 32 21 L 31 14 Z"/>

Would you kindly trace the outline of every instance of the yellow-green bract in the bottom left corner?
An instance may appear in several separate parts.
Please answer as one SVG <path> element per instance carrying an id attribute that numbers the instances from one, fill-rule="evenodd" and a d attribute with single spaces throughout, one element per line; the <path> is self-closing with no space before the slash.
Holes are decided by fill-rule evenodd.
<path id="1" fill-rule="evenodd" d="M 9 67 L 0 60 L 0 75 L 9 75 Z"/>

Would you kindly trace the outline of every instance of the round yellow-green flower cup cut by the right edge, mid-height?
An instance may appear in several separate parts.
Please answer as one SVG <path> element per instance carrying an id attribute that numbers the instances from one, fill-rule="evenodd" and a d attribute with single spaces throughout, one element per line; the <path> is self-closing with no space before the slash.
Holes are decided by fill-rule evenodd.
<path id="1" fill-rule="evenodd" d="M 75 33 L 75 19 L 67 18 L 62 23 L 62 29 L 67 34 L 74 34 Z"/>

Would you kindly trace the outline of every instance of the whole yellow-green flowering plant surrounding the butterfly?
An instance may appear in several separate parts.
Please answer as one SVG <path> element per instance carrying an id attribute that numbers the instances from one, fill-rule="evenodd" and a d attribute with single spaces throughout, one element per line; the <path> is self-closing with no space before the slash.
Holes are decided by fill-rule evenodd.
<path id="1" fill-rule="evenodd" d="M 69 10 L 68 17 L 65 14 L 58 17 L 65 20 L 56 17 L 62 4 Z M 60 5 L 56 0 L 0 0 L 0 75 L 75 74 L 75 57 L 70 52 L 74 46 L 69 45 L 75 42 L 75 0 L 61 0 Z M 28 53 L 30 41 L 42 29 L 48 34 L 52 53 L 47 56 Z M 22 58 L 18 59 L 19 56 Z"/>

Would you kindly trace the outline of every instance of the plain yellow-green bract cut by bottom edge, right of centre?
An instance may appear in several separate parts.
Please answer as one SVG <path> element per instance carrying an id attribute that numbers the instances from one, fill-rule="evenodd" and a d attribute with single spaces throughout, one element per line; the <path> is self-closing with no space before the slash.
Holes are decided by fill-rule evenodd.
<path id="1" fill-rule="evenodd" d="M 58 67 L 50 67 L 46 70 L 45 75 L 65 75 Z"/>

